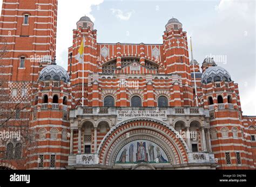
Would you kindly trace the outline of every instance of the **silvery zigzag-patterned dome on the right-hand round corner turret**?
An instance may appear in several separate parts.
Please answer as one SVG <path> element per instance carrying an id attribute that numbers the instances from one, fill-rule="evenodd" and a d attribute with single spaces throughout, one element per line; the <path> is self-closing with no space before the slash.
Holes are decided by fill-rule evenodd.
<path id="1" fill-rule="evenodd" d="M 228 71 L 219 66 L 212 66 L 204 71 L 201 77 L 201 83 L 207 84 L 218 81 L 232 81 Z"/>

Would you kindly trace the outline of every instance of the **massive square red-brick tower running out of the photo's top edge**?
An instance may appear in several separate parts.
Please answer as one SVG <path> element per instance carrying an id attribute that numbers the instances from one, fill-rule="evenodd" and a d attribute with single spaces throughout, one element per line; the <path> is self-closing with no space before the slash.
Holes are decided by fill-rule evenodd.
<path id="1" fill-rule="evenodd" d="M 31 125 L 31 111 L 36 110 L 31 104 L 38 99 L 35 96 L 39 72 L 52 64 L 55 57 L 56 30 L 57 0 L 3 0 L 0 80 L 6 95 L 2 100 L 8 103 L 3 107 L 15 109 L 16 116 L 11 118 L 16 120 L 11 120 L 11 126 L 25 129 L 25 136 L 30 134 L 26 127 Z M 21 157 L 24 158 L 28 152 L 23 144 Z M 24 160 L 21 163 L 25 167 Z"/>

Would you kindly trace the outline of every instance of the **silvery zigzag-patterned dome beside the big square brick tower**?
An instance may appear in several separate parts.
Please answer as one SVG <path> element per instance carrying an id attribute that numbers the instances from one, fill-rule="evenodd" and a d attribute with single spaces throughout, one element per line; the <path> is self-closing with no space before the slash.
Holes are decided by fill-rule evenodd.
<path id="1" fill-rule="evenodd" d="M 69 75 L 66 70 L 58 65 L 49 65 L 42 69 L 39 75 L 40 81 L 64 81 L 65 83 L 68 83 Z"/>

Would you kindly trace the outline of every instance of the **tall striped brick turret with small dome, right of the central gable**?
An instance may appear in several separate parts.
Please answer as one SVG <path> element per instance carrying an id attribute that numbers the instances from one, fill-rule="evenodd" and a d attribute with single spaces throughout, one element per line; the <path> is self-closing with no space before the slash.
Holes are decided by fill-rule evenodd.
<path id="1" fill-rule="evenodd" d="M 165 28 L 163 35 L 165 73 L 180 76 L 182 82 L 174 85 L 173 90 L 176 95 L 172 106 L 191 106 L 194 99 L 187 32 L 183 31 L 183 25 L 176 18 L 170 19 Z"/>

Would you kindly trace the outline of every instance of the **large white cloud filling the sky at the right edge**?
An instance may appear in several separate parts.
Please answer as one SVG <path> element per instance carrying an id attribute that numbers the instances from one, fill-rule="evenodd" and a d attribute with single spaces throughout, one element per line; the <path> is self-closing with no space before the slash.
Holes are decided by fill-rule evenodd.
<path id="1" fill-rule="evenodd" d="M 244 115 L 255 116 L 255 2 L 221 0 L 216 8 L 215 15 L 188 31 L 193 32 L 195 59 L 203 62 L 210 54 L 227 57 L 227 63 L 218 66 L 239 84 Z"/>

